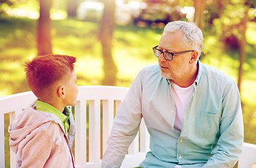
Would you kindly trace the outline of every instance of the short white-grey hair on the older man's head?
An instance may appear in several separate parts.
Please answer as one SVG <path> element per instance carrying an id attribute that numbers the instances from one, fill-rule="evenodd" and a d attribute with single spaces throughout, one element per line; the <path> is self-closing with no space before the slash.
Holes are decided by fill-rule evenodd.
<path id="1" fill-rule="evenodd" d="M 169 22 L 166 25 L 163 29 L 163 34 L 178 30 L 182 30 L 184 32 L 184 45 L 186 45 L 189 50 L 196 50 L 198 52 L 198 56 L 200 56 L 203 50 L 203 33 L 201 29 L 191 22 L 175 21 Z"/>

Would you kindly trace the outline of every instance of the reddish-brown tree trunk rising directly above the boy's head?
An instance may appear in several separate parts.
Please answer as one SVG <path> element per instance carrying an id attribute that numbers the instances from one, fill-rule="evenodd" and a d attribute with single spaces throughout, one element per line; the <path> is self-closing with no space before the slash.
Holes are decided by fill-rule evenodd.
<path id="1" fill-rule="evenodd" d="M 37 51 L 38 55 L 52 53 L 52 44 L 50 36 L 50 7 L 52 0 L 39 0 L 40 16 L 37 24 Z"/>

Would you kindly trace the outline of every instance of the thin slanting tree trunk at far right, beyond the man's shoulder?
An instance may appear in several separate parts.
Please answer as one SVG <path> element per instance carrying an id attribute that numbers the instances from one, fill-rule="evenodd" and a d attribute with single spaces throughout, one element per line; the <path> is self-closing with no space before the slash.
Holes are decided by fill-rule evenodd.
<path id="1" fill-rule="evenodd" d="M 241 92 L 241 80 L 243 76 L 243 62 L 245 60 L 245 46 L 246 46 L 246 29 L 248 23 L 248 9 L 245 11 L 245 18 L 241 21 L 241 34 L 242 38 L 239 45 L 239 69 L 238 69 L 238 89 Z"/>

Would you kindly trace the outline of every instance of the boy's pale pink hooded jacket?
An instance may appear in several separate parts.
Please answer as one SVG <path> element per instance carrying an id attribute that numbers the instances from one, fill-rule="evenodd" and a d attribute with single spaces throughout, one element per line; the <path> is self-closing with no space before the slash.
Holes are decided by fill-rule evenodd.
<path id="1" fill-rule="evenodd" d="M 9 126 L 10 147 L 18 167 L 74 167 L 74 158 L 60 119 L 27 107 Z"/>

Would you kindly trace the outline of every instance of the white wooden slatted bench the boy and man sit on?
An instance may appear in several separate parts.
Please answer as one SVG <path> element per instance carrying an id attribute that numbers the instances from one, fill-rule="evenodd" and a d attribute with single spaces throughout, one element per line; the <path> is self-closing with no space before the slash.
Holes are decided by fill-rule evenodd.
<path id="1" fill-rule="evenodd" d="M 127 92 L 128 87 L 79 86 L 77 104 L 72 108 L 76 123 L 74 143 L 76 167 L 100 167 L 100 160 L 106 148 L 114 114 L 119 109 Z M 4 118 L 10 116 L 10 121 L 6 124 L 9 125 L 15 116 L 35 99 L 32 92 L 0 97 L 0 167 L 6 167 L 4 136 L 9 137 L 8 134 L 4 134 L 4 129 L 8 129 L 4 127 Z M 149 134 L 142 120 L 140 132 L 133 144 L 130 145 L 121 167 L 137 167 L 144 160 L 147 151 L 149 151 Z M 16 167 L 15 154 L 12 151 L 7 160 L 10 160 L 11 168 Z M 251 168 L 252 164 L 256 164 L 256 145 L 245 143 L 238 167 Z"/>

